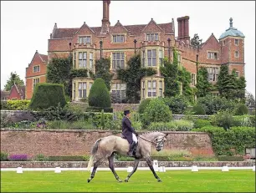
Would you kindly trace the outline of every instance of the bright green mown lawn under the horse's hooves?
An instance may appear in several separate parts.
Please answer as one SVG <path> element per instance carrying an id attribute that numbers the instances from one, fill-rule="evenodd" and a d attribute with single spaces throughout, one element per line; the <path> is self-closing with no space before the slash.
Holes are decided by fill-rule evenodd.
<path id="1" fill-rule="evenodd" d="M 117 171 L 122 180 L 128 175 Z M 1 192 L 255 192 L 253 170 L 167 170 L 157 182 L 151 171 L 138 170 L 128 183 L 110 171 L 98 171 L 87 183 L 87 171 L 1 171 Z"/>

